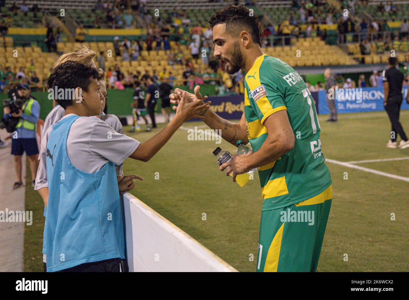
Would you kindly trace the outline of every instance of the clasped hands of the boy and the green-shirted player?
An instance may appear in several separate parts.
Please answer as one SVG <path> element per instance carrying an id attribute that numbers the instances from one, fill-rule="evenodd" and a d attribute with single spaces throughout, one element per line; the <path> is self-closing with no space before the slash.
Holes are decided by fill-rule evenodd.
<path id="1" fill-rule="evenodd" d="M 171 103 L 176 104 L 173 110 L 176 111 L 176 117 L 182 118 L 183 121 L 190 120 L 191 118 L 205 118 L 205 113 L 210 108 L 211 101 L 204 102 L 208 97 L 202 97 L 200 94 L 200 86 L 196 86 L 194 94 L 176 88 L 169 98 Z"/>

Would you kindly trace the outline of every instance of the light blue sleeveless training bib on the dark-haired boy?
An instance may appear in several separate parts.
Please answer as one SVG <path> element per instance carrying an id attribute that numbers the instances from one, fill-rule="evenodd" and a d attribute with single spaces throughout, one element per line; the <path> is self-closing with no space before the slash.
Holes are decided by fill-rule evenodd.
<path id="1" fill-rule="evenodd" d="M 113 162 L 95 173 L 76 169 L 67 153 L 70 116 L 54 124 L 47 141 L 47 272 L 87 262 L 125 258 L 124 229 Z"/>

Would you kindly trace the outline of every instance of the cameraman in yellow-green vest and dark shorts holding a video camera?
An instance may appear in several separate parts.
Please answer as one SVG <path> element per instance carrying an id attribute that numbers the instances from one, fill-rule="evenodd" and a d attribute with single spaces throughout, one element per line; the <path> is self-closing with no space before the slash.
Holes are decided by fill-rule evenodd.
<path id="1" fill-rule="evenodd" d="M 40 117 L 40 104 L 30 96 L 30 88 L 27 84 L 19 84 L 17 87 L 17 98 L 21 99 L 24 104 L 18 113 L 11 113 L 10 107 L 4 107 L 4 119 L 20 118 L 16 130 L 12 134 L 11 154 L 14 155 L 14 169 L 16 169 L 17 181 L 13 189 L 23 185 L 21 178 L 21 156 L 25 151 L 31 170 L 32 186 L 36 178 L 38 167 L 38 147 L 36 141 L 36 124 Z"/>

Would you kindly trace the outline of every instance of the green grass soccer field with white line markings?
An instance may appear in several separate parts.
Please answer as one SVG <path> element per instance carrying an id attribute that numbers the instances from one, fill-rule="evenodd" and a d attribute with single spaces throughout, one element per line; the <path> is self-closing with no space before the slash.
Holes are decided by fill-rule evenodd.
<path id="1" fill-rule="evenodd" d="M 319 116 L 326 158 L 348 162 L 409 157 L 409 149 L 385 147 L 390 123 L 384 112 L 344 114 L 337 123 L 324 122 L 326 118 Z M 402 111 L 401 123 L 407 132 L 408 121 L 409 111 Z M 203 125 L 189 122 L 184 127 L 205 129 Z M 129 135 L 144 142 L 162 127 L 164 124 L 151 132 Z M 239 271 L 255 271 L 262 204 L 258 176 L 240 188 L 218 170 L 212 154 L 218 146 L 232 153 L 236 148 L 224 141 L 188 140 L 185 129 L 179 129 L 149 162 L 124 162 L 125 174 L 144 178 L 132 193 Z M 333 202 L 318 271 L 407 271 L 409 183 L 329 162 L 327 165 L 333 180 Z M 409 160 L 357 165 L 409 176 Z M 159 179 L 155 179 L 156 172 Z M 348 173 L 347 180 L 344 172 Z M 27 187 L 26 209 L 33 209 L 34 220 L 39 222 L 26 227 L 26 271 L 42 270 L 41 203 L 38 193 Z M 202 220 L 203 213 L 206 220 Z M 396 220 L 391 220 L 391 213 Z M 348 261 L 344 261 L 344 254 L 348 254 Z"/>

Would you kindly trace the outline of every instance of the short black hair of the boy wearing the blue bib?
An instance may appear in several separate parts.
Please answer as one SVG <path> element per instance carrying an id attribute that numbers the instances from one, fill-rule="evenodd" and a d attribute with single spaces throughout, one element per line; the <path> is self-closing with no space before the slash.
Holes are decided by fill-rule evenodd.
<path id="1" fill-rule="evenodd" d="M 91 67 L 88 64 L 81 64 L 80 62 L 74 62 L 72 60 L 68 60 L 59 64 L 54 71 L 50 74 L 49 78 L 47 79 L 47 87 L 49 89 L 75 89 L 76 87 L 80 87 L 83 91 L 88 91 L 88 87 L 91 83 L 91 78 L 97 79 L 98 78 L 98 71 Z M 57 91 L 58 92 L 58 91 Z M 65 93 L 69 98 L 74 98 L 73 93 Z M 72 100 L 75 99 L 60 99 L 58 97 L 56 102 L 66 109 L 68 106 L 72 105 Z"/>

